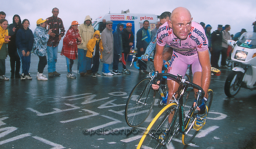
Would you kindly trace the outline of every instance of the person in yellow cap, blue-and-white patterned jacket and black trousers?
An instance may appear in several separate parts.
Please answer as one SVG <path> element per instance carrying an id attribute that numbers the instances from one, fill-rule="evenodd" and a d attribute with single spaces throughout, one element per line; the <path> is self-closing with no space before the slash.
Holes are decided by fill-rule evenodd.
<path id="1" fill-rule="evenodd" d="M 43 74 L 44 67 L 47 65 L 47 41 L 49 40 L 49 36 L 52 33 L 52 29 L 48 29 L 48 26 L 45 23 L 46 20 L 38 19 L 36 21 L 36 28 L 34 31 L 34 45 L 33 50 L 35 55 L 39 57 L 38 62 L 38 73 L 36 75 L 38 80 L 48 80 L 47 77 Z"/>

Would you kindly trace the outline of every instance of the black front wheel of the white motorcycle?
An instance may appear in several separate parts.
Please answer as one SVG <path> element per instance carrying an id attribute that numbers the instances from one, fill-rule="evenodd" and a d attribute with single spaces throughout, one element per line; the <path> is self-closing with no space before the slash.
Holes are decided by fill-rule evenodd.
<path id="1" fill-rule="evenodd" d="M 241 80 L 242 72 L 234 72 L 232 71 L 228 76 L 224 86 L 224 92 L 227 97 L 234 97 L 241 88 Z"/>

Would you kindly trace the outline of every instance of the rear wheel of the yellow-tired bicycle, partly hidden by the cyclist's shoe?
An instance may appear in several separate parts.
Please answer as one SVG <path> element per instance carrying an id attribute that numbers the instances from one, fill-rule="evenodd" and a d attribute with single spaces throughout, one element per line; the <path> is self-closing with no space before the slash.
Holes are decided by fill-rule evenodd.
<path id="1" fill-rule="evenodd" d="M 207 103 L 206 105 L 208 106 L 208 112 L 209 112 L 209 109 L 212 105 L 212 98 L 213 98 L 213 91 L 212 89 L 208 89 L 208 100 L 207 100 Z M 185 135 L 182 134 L 182 143 L 184 145 L 187 145 L 188 143 L 191 142 L 191 140 L 193 138 L 195 138 L 195 136 L 198 134 L 199 131 L 196 131 L 193 127 L 193 124 L 195 123 L 195 117 L 196 117 L 197 113 L 193 113 L 192 114 L 192 117 L 189 118 L 186 120 L 186 127 L 185 127 Z M 189 131 L 189 132 L 187 132 Z"/>

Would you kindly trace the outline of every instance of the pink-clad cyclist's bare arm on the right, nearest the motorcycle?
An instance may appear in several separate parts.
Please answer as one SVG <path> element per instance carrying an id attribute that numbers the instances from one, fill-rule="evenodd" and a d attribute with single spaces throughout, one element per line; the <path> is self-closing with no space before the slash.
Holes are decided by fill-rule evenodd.
<path id="1" fill-rule="evenodd" d="M 211 64 L 209 60 L 208 50 L 198 52 L 198 58 L 202 67 L 201 87 L 204 89 L 204 92 L 206 93 L 204 96 L 207 97 L 207 92 L 211 81 Z"/>

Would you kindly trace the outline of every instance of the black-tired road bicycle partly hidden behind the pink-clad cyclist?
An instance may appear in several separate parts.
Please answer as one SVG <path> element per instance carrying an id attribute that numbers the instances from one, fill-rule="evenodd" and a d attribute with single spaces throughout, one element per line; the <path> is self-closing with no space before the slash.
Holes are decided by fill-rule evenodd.
<path id="1" fill-rule="evenodd" d="M 134 64 L 136 69 L 137 60 L 141 60 L 141 57 L 133 56 L 131 66 Z M 168 87 L 166 84 L 166 78 L 163 78 L 160 83 L 160 88 L 154 90 L 151 88 L 152 81 L 154 80 L 154 64 L 153 57 L 149 57 L 148 61 L 151 63 L 148 65 L 150 72 L 148 76 L 140 80 L 134 88 L 131 90 L 125 105 L 125 120 L 126 123 L 131 127 L 140 126 L 148 117 L 151 109 L 154 105 L 155 99 L 158 98 L 157 105 L 162 108 L 166 105 L 168 97 Z M 166 64 L 168 65 L 168 64 Z M 189 75 L 186 74 L 186 79 L 190 81 Z M 188 89 L 191 91 L 192 89 Z M 189 92 L 186 92 L 186 97 L 189 96 Z"/>

